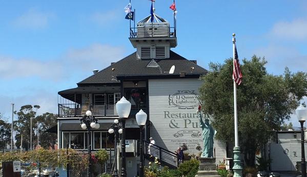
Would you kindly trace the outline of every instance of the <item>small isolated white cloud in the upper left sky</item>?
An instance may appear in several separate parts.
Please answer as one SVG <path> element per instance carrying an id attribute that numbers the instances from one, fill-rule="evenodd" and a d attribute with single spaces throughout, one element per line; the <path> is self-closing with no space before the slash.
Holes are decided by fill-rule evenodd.
<path id="1" fill-rule="evenodd" d="M 39 12 L 37 8 L 29 9 L 25 14 L 17 17 L 12 24 L 18 28 L 39 29 L 45 28 L 55 15 L 50 12 Z"/>

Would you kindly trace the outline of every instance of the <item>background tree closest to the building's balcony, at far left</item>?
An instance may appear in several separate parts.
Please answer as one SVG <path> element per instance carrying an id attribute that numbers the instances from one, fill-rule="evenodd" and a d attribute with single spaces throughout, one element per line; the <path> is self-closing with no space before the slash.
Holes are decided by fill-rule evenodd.
<path id="1" fill-rule="evenodd" d="M 40 145 L 45 149 L 48 149 L 49 147 L 52 147 L 52 149 L 54 149 L 54 145 L 57 142 L 57 134 L 46 132 L 46 130 L 57 125 L 57 117 L 57 114 L 47 112 L 35 118 L 35 121 L 39 122 L 39 142 Z"/>

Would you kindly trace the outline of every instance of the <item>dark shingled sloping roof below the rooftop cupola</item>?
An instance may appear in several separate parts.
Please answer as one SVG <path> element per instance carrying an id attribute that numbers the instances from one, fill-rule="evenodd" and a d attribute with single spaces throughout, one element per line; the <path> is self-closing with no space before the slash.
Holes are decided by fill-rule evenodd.
<path id="1" fill-rule="evenodd" d="M 117 81 L 116 78 L 117 75 L 120 75 L 121 77 L 123 75 L 168 75 L 168 72 L 173 65 L 175 66 L 173 75 L 179 75 L 180 72 L 185 71 L 189 75 L 199 77 L 200 74 L 205 74 L 208 72 L 208 70 L 198 66 L 195 64 L 195 62 L 187 60 L 171 50 L 170 58 L 155 59 L 160 67 L 147 67 L 151 60 L 152 59 L 137 59 L 136 52 L 134 52 L 126 58 L 119 60 L 118 62 L 77 83 L 77 85 L 78 87 L 97 84 L 119 85 L 119 81 Z M 191 69 L 192 67 L 193 70 Z"/>

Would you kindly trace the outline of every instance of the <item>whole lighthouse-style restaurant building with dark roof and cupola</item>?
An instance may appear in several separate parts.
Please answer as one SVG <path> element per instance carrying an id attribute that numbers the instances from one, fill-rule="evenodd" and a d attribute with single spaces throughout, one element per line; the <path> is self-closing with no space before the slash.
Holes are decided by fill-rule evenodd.
<path id="1" fill-rule="evenodd" d="M 136 49 L 134 53 L 95 71 L 86 79 L 80 79 L 76 88 L 58 92 L 60 148 L 69 144 L 70 148 L 80 150 L 88 147 L 92 151 L 107 149 L 112 158 L 107 170 L 111 170 L 113 158 L 121 160 L 121 150 L 119 145 L 118 154 L 114 155 L 116 141 L 108 130 L 114 119 L 119 118 L 115 104 L 124 96 L 131 103 L 131 112 L 125 123 L 128 176 L 138 175 L 140 153 L 145 154 L 146 160 L 152 160 L 148 154 L 149 137 L 156 142 L 154 153 L 162 165 L 177 167 L 173 153 L 180 146 L 187 147 L 185 153 L 198 156 L 199 147 L 203 146 L 196 112 L 200 104 L 198 88 L 202 83 L 198 79 L 208 71 L 197 65 L 197 61 L 183 58 L 171 50 L 177 46 L 175 20 L 174 17 L 174 26 L 171 27 L 170 22 L 155 14 L 153 9 L 135 27 L 130 27 L 129 40 Z M 100 124 L 99 129 L 91 131 L 91 146 L 79 121 L 87 110 L 92 111 Z M 148 115 L 143 152 L 138 148 L 140 128 L 135 119 L 140 110 Z M 215 141 L 214 147 L 217 162 L 226 158 L 226 144 Z M 121 168 L 120 165 L 117 163 L 117 169 Z"/>

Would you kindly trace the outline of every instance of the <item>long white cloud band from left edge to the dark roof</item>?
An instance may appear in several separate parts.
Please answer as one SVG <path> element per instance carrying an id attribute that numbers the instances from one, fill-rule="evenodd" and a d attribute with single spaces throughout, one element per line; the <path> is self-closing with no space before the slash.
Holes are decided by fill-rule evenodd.
<path id="1" fill-rule="evenodd" d="M 93 43 L 85 48 L 70 48 L 62 57 L 53 60 L 15 59 L 0 55 L 0 79 L 28 77 L 52 81 L 69 79 L 69 74 L 80 70 L 104 69 L 111 62 L 122 59 L 123 53 L 122 47 Z"/>

